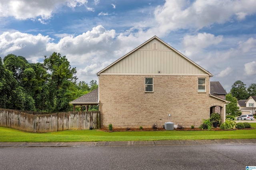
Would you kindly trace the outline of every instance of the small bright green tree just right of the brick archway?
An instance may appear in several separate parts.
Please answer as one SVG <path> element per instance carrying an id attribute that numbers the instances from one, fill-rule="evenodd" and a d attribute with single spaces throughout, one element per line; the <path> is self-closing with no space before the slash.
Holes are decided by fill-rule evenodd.
<path id="1" fill-rule="evenodd" d="M 232 96 L 232 94 L 226 95 L 226 100 L 230 101 L 230 104 L 226 106 L 226 115 L 239 116 L 241 115 L 241 111 L 237 106 L 237 99 Z"/>

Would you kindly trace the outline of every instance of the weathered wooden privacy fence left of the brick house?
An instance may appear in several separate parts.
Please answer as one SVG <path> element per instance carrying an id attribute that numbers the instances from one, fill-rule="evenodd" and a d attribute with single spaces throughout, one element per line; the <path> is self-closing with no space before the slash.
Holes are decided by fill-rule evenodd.
<path id="1" fill-rule="evenodd" d="M 0 109 L 0 126 L 45 133 L 64 130 L 100 129 L 100 111 L 42 113 Z"/>

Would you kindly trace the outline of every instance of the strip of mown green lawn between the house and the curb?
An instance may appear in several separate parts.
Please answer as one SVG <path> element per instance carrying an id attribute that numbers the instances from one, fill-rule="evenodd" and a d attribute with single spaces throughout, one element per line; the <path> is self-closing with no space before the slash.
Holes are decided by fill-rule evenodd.
<path id="1" fill-rule="evenodd" d="M 250 123 L 256 127 L 256 123 Z M 88 141 L 158 141 L 202 139 L 256 139 L 256 129 L 236 131 L 124 131 L 94 130 L 29 133 L 0 127 L 0 142 L 88 142 Z"/>

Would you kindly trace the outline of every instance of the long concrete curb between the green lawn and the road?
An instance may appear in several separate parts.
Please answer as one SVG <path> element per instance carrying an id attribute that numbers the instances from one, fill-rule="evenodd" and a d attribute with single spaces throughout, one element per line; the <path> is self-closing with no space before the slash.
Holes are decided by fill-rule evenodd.
<path id="1" fill-rule="evenodd" d="M 178 141 L 111 141 L 111 142 L 0 142 L 0 147 L 116 147 L 161 145 L 248 145 L 256 139 L 214 139 Z"/>

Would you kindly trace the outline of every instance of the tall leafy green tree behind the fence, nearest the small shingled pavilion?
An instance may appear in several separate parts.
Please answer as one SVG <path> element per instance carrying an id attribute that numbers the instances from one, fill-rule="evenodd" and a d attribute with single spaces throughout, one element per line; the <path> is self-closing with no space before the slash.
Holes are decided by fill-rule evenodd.
<path id="1" fill-rule="evenodd" d="M 52 111 L 69 111 L 72 101 L 70 91 L 76 83 L 76 68 L 71 68 L 66 56 L 53 53 L 49 58 L 45 56 L 44 66 L 50 72 L 48 81 L 49 101 Z"/>

